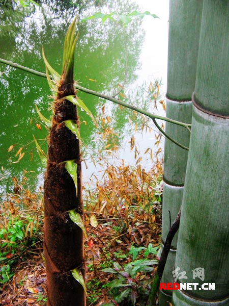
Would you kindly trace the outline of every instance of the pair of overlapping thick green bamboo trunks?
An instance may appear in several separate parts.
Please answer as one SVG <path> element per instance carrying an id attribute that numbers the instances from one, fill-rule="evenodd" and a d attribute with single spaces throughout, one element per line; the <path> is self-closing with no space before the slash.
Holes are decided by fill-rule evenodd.
<path id="1" fill-rule="evenodd" d="M 162 244 L 168 212 L 174 217 L 181 207 L 181 217 L 162 282 L 198 282 L 201 289 L 208 283 L 215 290 L 162 289 L 160 306 L 229 303 L 228 16 L 227 1 L 170 0 L 166 115 L 191 122 L 192 131 L 189 143 L 185 131 L 166 124 L 189 152 L 166 139 Z M 202 275 L 195 279 L 197 270 Z"/>

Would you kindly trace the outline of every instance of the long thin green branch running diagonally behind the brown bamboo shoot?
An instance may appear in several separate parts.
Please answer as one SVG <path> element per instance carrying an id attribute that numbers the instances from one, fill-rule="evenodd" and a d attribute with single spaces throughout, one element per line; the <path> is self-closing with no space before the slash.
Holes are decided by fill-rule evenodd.
<path id="1" fill-rule="evenodd" d="M 40 71 L 31 69 L 31 68 L 24 67 L 24 66 L 22 66 L 22 65 L 13 63 L 13 62 L 11 62 L 11 61 L 7 61 L 7 60 L 4 60 L 4 59 L 1 59 L 1 58 L 0 58 L 0 63 L 3 63 L 3 64 L 6 64 L 6 65 L 9 65 L 9 66 L 12 66 L 12 67 L 15 67 L 15 68 L 24 70 L 24 71 L 26 71 L 26 72 L 30 72 L 30 73 L 32 73 L 32 74 L 38 75 L 38 77 L 47 78 L 47 77 L 46 77 L 46 74 L 43 73 L 43 72 L 40 72 Z M 51 75 L 50 75 L 50 78 L 51 78 Z M 103 94 L 103 93 L 100 93 L 100 92 L 97 92 L 97 91 L 94 91 L 94 90 L 91 90 L 91 89 L 82 87 L 82 86 L 80 86 L 80 85 L 78 85 L 78 84 L 75 84 L 75 88 L 78 89 L 78 90 L 80 90 L 80 91 L 83 91 L 83 92 L 85 92 L 85 93 L 92 94 L 92 95 L 101 97 L 101 98 L 103 98 L 103 99 L 112 101 L 113 103 L 116 103 L 116 104 L 119 104 L 119 105 L 124 106 L 124 107 L 126 107 L 126 108 L 129 108 L 129 109 L 131 109 L 131 110 L 133 110 L 133 111 L 135 111 L 135 112 L 137 112 L 137 113 L 146 115 L 147 117 L 149 117 L 149 118 L 151 118 L 151 119 L 160 119 L 160 120 L 163 120 L 163 121 L 166 121 L 166 122 L 174 123 L 174 124 L 183 126 L 183 127 L 185 127 L 187 130 L 190 131 L 189 127 L 191 127 L 191 124 L 189 124 L 189 123 L 184 123 L 184 122 L 180 122 L 180 121 L 177 121 L 177 120 L 173 120 L 173 119 L 170 119 L 170 118 L 167 118 L 167 117 L 158 116 L 158 115 L 149 113 L 149 112 L 144 111 L 144 110 L 141 110 L 141 109 L 139 109 L 139 108 L 137 108 L 137 107 L 135 107 L 135 106 L 129 105 L 129 104 L 123 102 L 123 101 L 120 101 L 120 100 L 118 100 L 118 99 L 115 99 L 115 98 L 113 98 L 113 97 L 111 97 L 111 96 L 108 96 L 108 95 L 105 95 L 105 94 Z M 170 140 L 171 140 L 171 139 L 170 139 Z M 172 140 L 172 141 L 173 141 L 173 140 Z"/>

